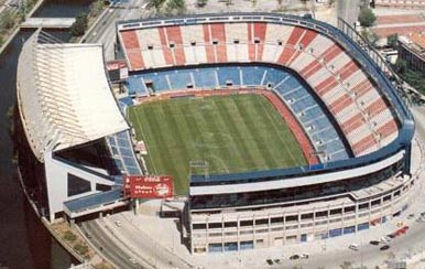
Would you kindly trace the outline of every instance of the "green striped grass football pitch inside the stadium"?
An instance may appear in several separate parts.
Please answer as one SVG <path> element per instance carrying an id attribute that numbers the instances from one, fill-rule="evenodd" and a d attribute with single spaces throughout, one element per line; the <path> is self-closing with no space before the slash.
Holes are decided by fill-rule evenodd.
<path id="1" fill-rule="evenodd" d="M 149 172 L 172 175 L 177 194 L 187 194 L 190 161 L 206 161 L 209 174 L 306 164 L 281 115 L 260 95 L 159 100 L 131 107 L 129 117 L 145 141 Z"/>

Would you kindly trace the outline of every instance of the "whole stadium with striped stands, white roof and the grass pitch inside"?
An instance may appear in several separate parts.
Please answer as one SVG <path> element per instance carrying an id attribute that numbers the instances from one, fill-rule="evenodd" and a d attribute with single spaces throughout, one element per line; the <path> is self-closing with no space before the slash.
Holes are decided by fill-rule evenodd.
<path id="1" fill-rule="evenodd" d="M 119 22 L 117 101 L 101 46 L 52 41 L 34 34 L 18 72 L 36 159 L 20 162 L 51 220 L 129 203 L 123 175 L 174 179 L 194 254 L 352 234 L 408 206 L 413 118 L 341 30 L 274 13 Z"/>

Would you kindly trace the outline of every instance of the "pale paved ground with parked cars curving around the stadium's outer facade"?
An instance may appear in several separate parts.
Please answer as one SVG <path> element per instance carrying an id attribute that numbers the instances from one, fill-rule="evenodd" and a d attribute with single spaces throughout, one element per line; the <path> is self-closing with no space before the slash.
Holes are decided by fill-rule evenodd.
<path id="1" fill-rule="evenodd" d="M 418 130 L 421 136 L 425 134 L 424 126 L 418 128 Z M 419 149 L 419 144 L 416 141 L 417 140 L 415 140 L 413 147 L 413 172 L 419 175 L 418 172 L 423 170 L 423 159 L 422 149 Z M 423 177 L 422 174 L 421 176 Z M 351 262 L 356 266 L 363 265 L 369 268 L 375 266 L 382 267 L 391 260 L 405 259 L 406 257 L 412 257 L 423 251 L 425 238 L 422 239 L 421 234 L 425 230 L 425 223 L 417 223 L 415 218 L 406 219 L 406 216 L 411 213 L 415 213 L 417 216 L 419 212 L 425 212 L 425 197 L 418 195 L 424 192 L 424 184 L 422 182 L 423 179 L 421 179 L 421 183 L 413 189 L 415 194 L 412 195 L 412 206 L 407 212 L 401 217 L 392 218 L 386 224 L 371 227 L 369 230 L 355 235 L 346 235 L 327 240 L 286 245 L 261 250 L 247 250 L 236 254 L 192 256 L 179 243 L 179 232 L 177 230 L 175 219 L 160 219 L 153 214 L 159 206 L 155 202 L 145 204 L 142 213 L 139 215 L 124 212 L 119 215 L 106 217 L 105 223 L 112 227 L 116 226 L 115 229 L 117 233 L 119 233 L 119 228 L 117 225 L 113 225 L 117 222 L 121 224 L 120 228 L 126 227 L 126 233 L 121 234 L 121 240 L 131 246 L 131 249 L 140 255 L 146 255 L 141 246 L 137 246 L 141 239 L 139 237 L 142 236 L 149 238 L 149 240 L 156 241 L 156 248 L 167 249 L 168 254 L 174 254 L 176 257 L 186 260 L 187 263 L 205 268 L 293 268 L 294 266 L 302 266 L 303 268 L 319 268 L 320 266 L 324 268 L 339 268 L 339 266 L 345 262 Z M 370 240 L 379 239 L 382 236 L 395 232 L 397 229 L 396 224 L 400 222 L 403 222 L 411 228 L 405 235 L 390 243 L 390 250 L 381 251 L 379 247 L 369 244 Z M 418 238 L 421 239 L 418 240 Z M 348 249 L 348 246 L 352 243 L 360 245 L 359 251 Z M 308 254 L 309 259 L 297 261 L 288 260 L 288 257 L 294 254 Z M 151 257 L 151 259 L 153 258 Z M 281 262 L 270 267 L 265 263 L 266 259 L 279 259 Z"/>

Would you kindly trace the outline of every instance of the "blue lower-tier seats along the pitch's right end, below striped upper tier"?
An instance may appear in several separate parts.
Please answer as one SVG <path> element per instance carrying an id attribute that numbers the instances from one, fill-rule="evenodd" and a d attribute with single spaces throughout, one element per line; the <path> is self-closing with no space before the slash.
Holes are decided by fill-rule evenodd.
<path id="1" fill-rule="evenodd" d="M 294 76 L 281 82 L 276 84 L 275 92 L 281 95 L 303 125 L 316 151 L 323 153 L 319 154 L 322 161 L 348 159 L 348 153 L 336 129 L 310 92 Z M 338 153 L 334 154 L 335 152 Z"/>

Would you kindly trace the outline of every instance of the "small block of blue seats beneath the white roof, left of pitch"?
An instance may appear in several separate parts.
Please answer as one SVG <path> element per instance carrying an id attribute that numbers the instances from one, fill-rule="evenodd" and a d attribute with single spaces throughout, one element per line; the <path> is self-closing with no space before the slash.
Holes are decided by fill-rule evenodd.
<path id="1" fill-rule="evenodd" d="M 142 174 L 128 131 L 109 136 L 107 138 L 107 143 L 113 155 L 113 161 L 120 171 L 128 174 Z"/>

